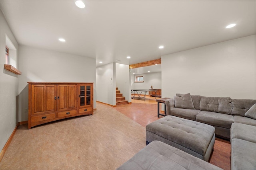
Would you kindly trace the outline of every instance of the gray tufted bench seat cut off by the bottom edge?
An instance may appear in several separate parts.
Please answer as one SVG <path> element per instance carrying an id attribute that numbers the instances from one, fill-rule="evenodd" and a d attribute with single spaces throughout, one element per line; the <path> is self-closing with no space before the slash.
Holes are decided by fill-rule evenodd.
<path id="1" fill-rule="evenodd" d="M 153 141 L 117 170 L 221 170 L 160 141 Z"/>

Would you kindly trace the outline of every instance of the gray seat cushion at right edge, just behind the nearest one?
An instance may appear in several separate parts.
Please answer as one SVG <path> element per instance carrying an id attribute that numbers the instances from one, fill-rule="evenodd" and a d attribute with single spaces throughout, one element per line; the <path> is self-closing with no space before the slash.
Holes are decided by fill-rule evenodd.
<path id="1" fill-rule="evenodd" d="M 233 123 L 230 129 L 230 139 L 234 138 L 256 143 L 256 126 Z"/>

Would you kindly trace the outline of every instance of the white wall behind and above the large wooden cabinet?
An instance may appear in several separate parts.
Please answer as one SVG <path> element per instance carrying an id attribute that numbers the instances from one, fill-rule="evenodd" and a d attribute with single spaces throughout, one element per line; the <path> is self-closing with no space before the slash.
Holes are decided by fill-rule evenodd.
<path id="1" fill-rule="evenodd" d="M 94 82 L 96 93 L 95 59 L 28 46 L 19 47 L 19 59 L 19 121 L 28 120 L 27 82 Z"/>

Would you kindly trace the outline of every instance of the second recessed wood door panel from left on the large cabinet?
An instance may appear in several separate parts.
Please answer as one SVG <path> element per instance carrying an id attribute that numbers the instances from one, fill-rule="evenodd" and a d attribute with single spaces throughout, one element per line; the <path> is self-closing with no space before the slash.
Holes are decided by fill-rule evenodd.
<path id="1" fill-rule="evenodd" d="M 54 86 L 46 86 L 46 111 L 54 111 L 55 105 L 55 89 Z"/>

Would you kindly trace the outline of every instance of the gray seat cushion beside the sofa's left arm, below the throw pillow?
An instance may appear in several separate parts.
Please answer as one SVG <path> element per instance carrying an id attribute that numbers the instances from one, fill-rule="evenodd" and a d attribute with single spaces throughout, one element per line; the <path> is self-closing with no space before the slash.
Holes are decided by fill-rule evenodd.
<path id="1" fill-rule="evenodd" d="M 200 112 L 201 110 L 196 110 L 196 109 L 179 109 L 179 108 L 171 109 L 171 115 L 182 117 L 184 119 L 194 120 L 194 121 L 196 121 L 196 115 L 198 115 L 198 113 Z"/>

